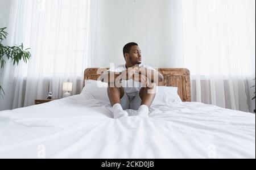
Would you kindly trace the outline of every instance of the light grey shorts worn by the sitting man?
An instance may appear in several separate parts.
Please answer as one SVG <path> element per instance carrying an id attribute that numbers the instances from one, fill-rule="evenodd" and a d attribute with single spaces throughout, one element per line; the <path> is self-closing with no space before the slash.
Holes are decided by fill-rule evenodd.
<path id="1" fill-rule="evenodd" d="M 121 105 L 123 110 L 132 109 L 138 111 L 139 107 L 141 107 L 141 97 L 139 96 L 139 92 L 136 96 L 128 96 L 125 92 L 121 99 Z"/>

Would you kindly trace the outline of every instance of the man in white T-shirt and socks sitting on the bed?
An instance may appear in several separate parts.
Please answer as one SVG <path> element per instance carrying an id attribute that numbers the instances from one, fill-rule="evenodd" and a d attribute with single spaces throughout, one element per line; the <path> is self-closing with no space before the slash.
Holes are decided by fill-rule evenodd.
<path id="1" fill-rule="evenodd" d="M 163 75 L 142 65 L 141 49 L 135 42 L 123 47 L 123 56 L 125 65 L 110 69 L 100 77 L 102 82 L 109 84 L 108 95 L 114 118 L 128 116 L 126 109 L 138 110 L 138 116 L 148 117 L 156 84 L 163 81 Z"/>

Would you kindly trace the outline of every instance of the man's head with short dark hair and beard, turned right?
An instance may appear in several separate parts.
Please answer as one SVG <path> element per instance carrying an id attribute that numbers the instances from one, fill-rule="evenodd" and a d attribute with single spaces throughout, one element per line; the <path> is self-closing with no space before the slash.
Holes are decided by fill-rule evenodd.
<path id="1" fill-rule="evenodd" d="M 141 49 L 135 42 L 130 42 L 123 47 L 123 57 L 129 65 L 140 65 L 142 63 Z"/>

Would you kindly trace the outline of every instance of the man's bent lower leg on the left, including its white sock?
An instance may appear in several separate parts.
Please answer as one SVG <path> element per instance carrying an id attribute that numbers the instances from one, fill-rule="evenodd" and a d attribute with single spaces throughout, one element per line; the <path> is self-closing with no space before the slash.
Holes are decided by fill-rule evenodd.
<path id="1" fill-rule="evenodd" d="M 122 105 L 121 105 L 121 99 L 123 95 L 125 95 L 125 91 L 123 88 L 117 88 L 117 87 L 108 87 L 108 95 L 110 103 L 113 107 L 113 115 L 114 118 L 121 118 L 128 116 L 128 113 L 126 111 L 123 111 Z"/>

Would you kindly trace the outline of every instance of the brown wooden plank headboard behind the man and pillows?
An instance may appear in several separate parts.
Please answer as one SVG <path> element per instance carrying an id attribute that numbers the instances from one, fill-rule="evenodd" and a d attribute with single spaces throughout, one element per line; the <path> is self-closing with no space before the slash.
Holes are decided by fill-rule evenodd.
<path id="1" fill-rule="evenodd" d="M 97 80 L 101 73 L 108 70 L 89 68 L 84 71 L 84 80 Z M 178 94 L 182 101 L 191 101 L 190 71 L 188 69 L 158 69 L 164 76 L 164 82 L 158 86 L 172 86 L 178 88 Z"/>

